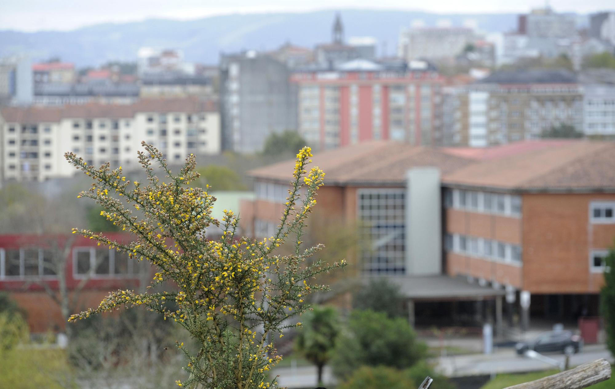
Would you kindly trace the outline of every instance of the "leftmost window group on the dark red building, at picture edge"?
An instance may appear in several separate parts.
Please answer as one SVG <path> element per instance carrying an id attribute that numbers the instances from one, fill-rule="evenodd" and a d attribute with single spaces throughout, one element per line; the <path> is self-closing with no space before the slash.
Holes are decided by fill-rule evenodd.
<path id="1" fill-rule="evenodd" d="M 53 253 L 37 247 L 0 248 L 0 278 L 40 278 L 54 276 Z"/>

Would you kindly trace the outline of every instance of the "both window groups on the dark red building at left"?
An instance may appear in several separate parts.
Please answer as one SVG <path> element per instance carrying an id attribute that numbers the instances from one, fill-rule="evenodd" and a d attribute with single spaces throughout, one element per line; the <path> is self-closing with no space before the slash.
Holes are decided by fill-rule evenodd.
<path id="1" fill-rule="evenodd" d="M 57 278 L 57 262 L 52 250 L 43 248 L 0 248 L 0 279 Z M 73 277 L 130 277 L 143 266 L 128 254 L 107 248 L 74 248 Z"/>

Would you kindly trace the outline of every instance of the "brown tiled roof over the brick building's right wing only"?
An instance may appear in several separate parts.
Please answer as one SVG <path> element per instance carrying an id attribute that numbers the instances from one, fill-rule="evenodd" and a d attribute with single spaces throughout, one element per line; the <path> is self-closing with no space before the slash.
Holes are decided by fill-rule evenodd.
<path id="1" fill-rule="evenodd" d="M 565 141 L 520 148 L 445 174 L 442 181 L 450 186 L 525 191 L 612 191 L 615 143 Z"/>

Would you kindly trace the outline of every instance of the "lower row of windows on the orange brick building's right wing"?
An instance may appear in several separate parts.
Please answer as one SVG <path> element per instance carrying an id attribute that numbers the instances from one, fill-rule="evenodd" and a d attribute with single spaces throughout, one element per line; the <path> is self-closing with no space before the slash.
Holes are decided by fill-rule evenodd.
<path id="1" fill-rule="evenodd" d="M 445 250 L 510 264 L 522 263 L 521 246 L 461 234 L 445 235 Z"/>

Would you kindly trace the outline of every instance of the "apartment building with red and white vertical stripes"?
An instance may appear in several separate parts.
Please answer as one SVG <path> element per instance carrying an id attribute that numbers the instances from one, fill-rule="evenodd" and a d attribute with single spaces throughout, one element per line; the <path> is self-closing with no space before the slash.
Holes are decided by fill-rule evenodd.
<path id="1" fill-rule="evenodd" d="M 426 61 L 296 71 L 299 132 L 316 149 L 370 139 L 440 144 L 444 77 Z"/>

